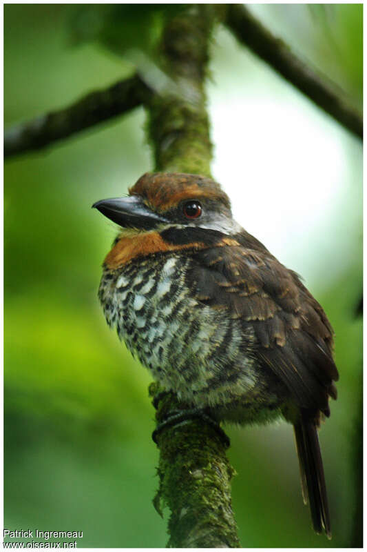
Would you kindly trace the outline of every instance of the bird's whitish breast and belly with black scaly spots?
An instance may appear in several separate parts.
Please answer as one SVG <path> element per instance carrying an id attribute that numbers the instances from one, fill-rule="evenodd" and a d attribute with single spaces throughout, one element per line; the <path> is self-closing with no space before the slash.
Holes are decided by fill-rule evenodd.
<path id="1" fill-rule="evenodd" d="M 99 297 L 109 325 L 158 381 L 182 400 L 222 403 L 255 385 L 253 336 L 195 299 L 190 263 L 170 252 L 106 267 Z"/>

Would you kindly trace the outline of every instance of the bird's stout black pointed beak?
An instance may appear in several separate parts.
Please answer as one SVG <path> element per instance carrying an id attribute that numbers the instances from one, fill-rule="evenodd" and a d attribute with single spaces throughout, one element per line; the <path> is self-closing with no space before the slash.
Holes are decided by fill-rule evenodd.
<path id="1" fill-rule="evenodd" d="M 92 207 L 123 228 L 152 230 L 156 226 L 168 222 L 165 217 L 149 209 L 138 195 L 101 199 L 101 201 L 96 201 Z"/>

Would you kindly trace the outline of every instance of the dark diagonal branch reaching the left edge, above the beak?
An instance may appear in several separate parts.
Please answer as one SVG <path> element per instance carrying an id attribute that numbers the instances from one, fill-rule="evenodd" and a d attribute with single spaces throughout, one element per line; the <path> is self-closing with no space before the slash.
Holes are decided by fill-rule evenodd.
<path id="1" fill-rule="evenodd" d="M 151 90 L 135 75 L 84 96 L 65 109 L 15 125 L 4 135 L 4 157 L 39 150 L 85 128 L 107 121 L 147 101 Z"/>

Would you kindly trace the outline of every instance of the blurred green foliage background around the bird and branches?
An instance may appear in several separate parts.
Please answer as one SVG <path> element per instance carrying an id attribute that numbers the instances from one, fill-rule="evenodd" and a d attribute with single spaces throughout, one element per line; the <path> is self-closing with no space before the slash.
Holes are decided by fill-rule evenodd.
<path id="1" fill-rule="evenodd" d="M 277 12 L 285 37 L 287 7 Z M 348 58 L 348 69 L 344 57 L 338 66 L 336 56 L 333 76 L 358 97 L 361 8 L 334 8 L 332 20 L 324 24 L 333 28 L 333 40 Z M 73 18 L 79 30 L 90 25 L 93 34 L 102 28 L 99 15 L 93 16 L 94 27 L 81 23 L 82 16 L 92 17 L 81 9 L 61 4 L 5 6 L 6 124 L 67 105 L 132 71 L 130 61 L 84 38 L 77 48 L 71 45 Z M 87 8 L 90 13 L 95 9 Z M 103 10 L 112 17 L 113 8 Z M 139 48 L 151 21 L 159 27 L 162 8 L 158 14 L 155 8 L 140 6 L 125 10 L 121 24 L 130 34 L 125 34 L 127 42 L 121 42 L 121 48 Z M 324 43 L 320 46 L 319 19 L 312 23 L 312 17 L 308 23 L 315 32 L 308 35 L 308 53 L 313 52 L 313 61 L 322 66 L 333 48 L 327 53 Z M 300 19 L 297 25 L 302 26 Z M 120 31 L 112 34 L 107 42 L 116 45 Z M 231 68 L 231 50 L 225 48 L 213 48 L 213 72 L 216 56 L 227 59 Z M 79 546 L 165 546 L 166 521 L 151 504 L 158 457 L 150 438 L 151 378 L 108 330 L 98 306 L 101 262 L 115 229 L 90 209 L 97 199 L 122 195 L 151 170 L 143 122 L 143 110 L 136 110 L 123 120 L 5 166 L 8 529 L 83 531 Z M 357 162 L 352 152 L 351 166 Z M 360 228 L 358 215 L 350 212 L 348 217 L 354 217 L 355 228 Z M 231 462 L 238 471 L 233 506 L 244 546 L 350 546 L 358 540 L 355 492 L 361 482 L 354 474 L 361 439 L 355 429 L 361 402 L 361 321 L 355 317 L 355 306 L 360 293 L 361 254 L 356 249 L 342 277 L 324 297 L 317 297 L 337 333 L 342 374 L 338 402 L 321 433 L 333 540 L 326 542 L 311 531 L 291 428 L 279 424 L 229 430 Z"/>

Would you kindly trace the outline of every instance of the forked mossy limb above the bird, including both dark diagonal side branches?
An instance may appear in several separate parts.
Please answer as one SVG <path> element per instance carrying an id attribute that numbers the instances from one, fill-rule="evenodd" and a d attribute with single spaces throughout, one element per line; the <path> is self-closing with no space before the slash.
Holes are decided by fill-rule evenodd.
<path id="1" fill-rule="evenodd" d="M 348 106 L 345 99 L 319 75 L 297 59 L 286 43 L 273 37 L 247 8 L 236 4 L 192 4 L 186 9 L 185 5 L 182 6 L 182 12 L 185 11 L 189 17 L 172 19 L 162 42 L 165 72 L 172 77 L 167 80 L 166 92 L 161 95 L 160 90 L 149 86 L 139 75 L 106 90 L 91 92 L 71 106 L 6 130 L 4 157 L 41 150 L 142 104 L 149 104 L 149 136 L 154 147 L 156 168 L 209 176 L 211 142 L 202 77 L 207 66 L 207 45 L 213 17 L 224 12 L 227 12 L 224 23 L 240 43 L 269 63 L 344 128 L 359 138 L 363 137 L 361 115 Z M 195 28 L 191 26 L 189 10 L 202 13 Z M 173 83 L 176 84 L 172 86 Z"/>

